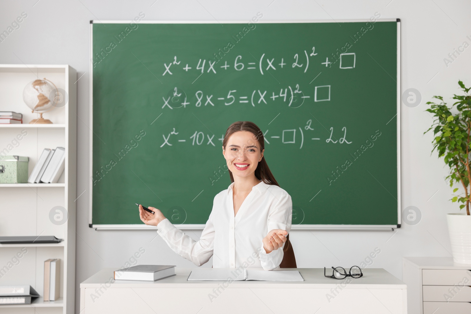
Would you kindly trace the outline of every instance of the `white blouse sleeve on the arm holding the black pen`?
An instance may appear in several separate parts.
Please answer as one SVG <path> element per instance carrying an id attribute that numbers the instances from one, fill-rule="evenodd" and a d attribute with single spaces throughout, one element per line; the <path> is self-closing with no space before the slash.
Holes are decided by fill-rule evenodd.
<path id="1" fill-rule="evenodd" d="M 214 204 L 213 204 L 214 209 Z M 193 240 L 183 231 L 175 227 L 169 219 L 163 219 L 157 225 L 157 233 L 167 242 L 169 247 L 178 255 L 192 261 L 196 266 L 201 266 L 209 261 L 214 248 L 214 225 L 212 222 L 213 210 L 206 221 L 201 237 Z"/>

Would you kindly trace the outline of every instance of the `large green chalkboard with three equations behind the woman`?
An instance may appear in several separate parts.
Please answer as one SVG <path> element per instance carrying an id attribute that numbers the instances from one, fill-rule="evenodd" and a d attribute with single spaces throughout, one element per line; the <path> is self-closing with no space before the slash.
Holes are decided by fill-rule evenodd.
<path id="1" fill-rule="evenodd" d="M 265 135 L 293 225 L 397 225 L 398 23 L 92 23 L 90 223 L 204 224 L 222 137 Z M 309 226 L 308 226 L 309 227 Z"/>

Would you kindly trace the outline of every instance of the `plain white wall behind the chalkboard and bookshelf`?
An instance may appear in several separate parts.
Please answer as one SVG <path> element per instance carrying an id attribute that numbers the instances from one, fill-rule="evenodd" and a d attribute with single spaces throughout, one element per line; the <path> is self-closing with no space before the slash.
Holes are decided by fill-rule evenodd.
<path id="1" fill-rule="evenodd" d="M 471 43 L 466 38 L 467 35 L 471 37 L 471 2 L 158 0 L 153 4 L 154 0 L 36 1 L 5 1 L 1 4 L 0 31 L 21 12 L 27 12 L 28 17 L 20 24 L 20 29 L 0 43 L 0 63 L 70 64 L 78 71 L 78 76 L 84 74 L 77 82 L 80 117 L 77 195 L 85 191 L 77 200 L 77 309 L 80 282 L 103 267 L 124 265 L 140 247 L 146 250 L 138 259 L 141 264 L 193 266 L 173 253 L 160 237 L 154 239 L 154 232 L 95 231 L 88 226 L 89 20 L 130 20 L 141 11 L 146 14 L 146 20 L 248 20 L 258 11 L 263 13 L 265 21 L 366 19 L 375 12 L 380 12 L 382 18 L 399 17 L 402 21 L 401 90 L 415 88 L 422 94 L 422 104 L 418 107 L 401 107 L 401 205 L 402 208 L 418 207 L 422 220 L 414 226 L 403 224 L 394 236 L 391 231 L 293 231 L 291 240 L 298 267 L 359 265 L 378 247 L 381 253 L 368 267 L 385 268 L 398 278 L 402 277 L 402 257 L 451 256 L 445 214 L 458 209 L 448 201 L 451 189 L 443 179 L 447 174 L 444 162 L 437 159 L 436 153 L 430 156 L 432 134 L 422 134 L 432 122 L 424 112 L 427 106 L 424 104 L 433 95 L 449 97 L 458 93 L 458 79 L 471 86 L 471 48 L 448 67 L 443 61 L 463 41 Z M 381 204 L 377 206 L 381 210 Z M 194 239 L 198 239 L 200 233 L 187 232 Z M 211 261 L 207 266 L 211 267 Z"/>

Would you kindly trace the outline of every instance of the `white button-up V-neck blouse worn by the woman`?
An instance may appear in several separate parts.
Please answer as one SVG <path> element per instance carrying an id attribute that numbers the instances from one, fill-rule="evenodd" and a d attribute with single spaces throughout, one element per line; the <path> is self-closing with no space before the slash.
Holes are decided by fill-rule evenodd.
<path id="1" fill-rule="evenodd" d="M 252 187 L 234 217 L 234 182 L 214 197 L 211 214 L 199 241 L 176 228 L 169 219 L 157 225 L 157 233 L 170 248 L 196 266 L 211 256 L 215 268 L 279 268 L 283 247 L 269 254 L 263 238 L 273 229 L 291 230 L 291 196 L 277 185 L 260 181 Z M 286 242 L 285 242 L 286 243 Z"/>

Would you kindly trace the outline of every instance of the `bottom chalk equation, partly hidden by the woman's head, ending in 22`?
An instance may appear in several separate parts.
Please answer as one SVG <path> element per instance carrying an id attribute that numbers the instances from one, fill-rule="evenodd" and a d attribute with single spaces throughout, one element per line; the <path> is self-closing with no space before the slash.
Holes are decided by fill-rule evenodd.
<path id="1" fill-rule="evenodd" d="M 282 130 L 281 133 L 278 132 L 276 133 L 277 135 L 269 135 L 268 136 L 268 129 L 263 133 L 263 138 L 266 144 L 270 144 L 270 141 L 273 143 L 274 141 L 276 142 L 281 142 L 282 144 L 298 144 L 300 145 L 300 149 L 302 148 L 302 145 L 304 144 L 304 137 L 306 139 L 312 140 L 312 141 L 322 141 L 323 138 L 321 137 L 314 137 L 316 136 L 314 128 L 311 127 L 312 120 L 309 119 L 306 122 L 306 125 L 304 128 L 294 128 L 294 129 L 285 129 Z M 220 138 L 214 138 L 214 134 L 208 134 L 204 133 L 202 131 L 195 130 L 195 132 L 190 134 L 187 134 L 186 138 L 184 135 L 180 134 L 180 132 L 177 132 L 175 128 L 172 128 L 173 130 L 170 133 L 162 134 L 163 137 L 163 143 L 160 145 L 160 147 L 165 147 L 165 146 L 174 146 L 174 145 L 179 145 L 179 143 L 185 143 L 189 144 L 192 146 L 199 146 L 199 145 L 222 145 L 222 142 L 224 140 L 224 134 Z M 311 132 L 312 131 L 312 132 Z M 325 131 L 322 131 L 323 134 L 325 134 Z M 337 136 L 342 136 L 340 138 L 336 138 L 334 134 L 334 128 L 330 128 L 330 136 L 325 139 L 325 143 L 332 143 L 332 144 L 351 144 L 352 141 L 347 140 L 347 127 L 341 128 L 341 132 L 335 131 Z M 218 142 L 219 141 L 219 142 Z"/>

